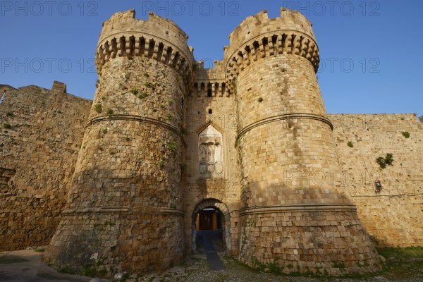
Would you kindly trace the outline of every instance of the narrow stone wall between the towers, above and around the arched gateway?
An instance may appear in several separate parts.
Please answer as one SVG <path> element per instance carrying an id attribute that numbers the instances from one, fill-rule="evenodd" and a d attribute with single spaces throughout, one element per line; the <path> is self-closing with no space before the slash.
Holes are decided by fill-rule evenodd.
<path id="1" fill-rule="evenodd" d="M 221 67 L 221 61 L 215 61 L 213 69 L 204 69 L 200 63 L 188 97 L 187 172 L 183 176 L 185 242 L 188 251 L 195 251 L 195 216 L 199 209 L 215 207 L 224 221 L 223 243 L 232 255 L 238 255 L 240 174 L 234 147 L 235 104 L 226 91 Z M 202 156 L 202 148 L 214 150 L 216 157 Z"/>

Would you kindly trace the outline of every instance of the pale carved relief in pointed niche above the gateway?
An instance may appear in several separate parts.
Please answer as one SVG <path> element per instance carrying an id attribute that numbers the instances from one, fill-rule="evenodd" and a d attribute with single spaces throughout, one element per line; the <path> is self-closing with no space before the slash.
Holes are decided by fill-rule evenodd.
<path id="1" fill-rule="evenodd" d="M 200 178 L 223 178 L 222 140 L 222 133 L 211 124 L 198 135 Z"/>

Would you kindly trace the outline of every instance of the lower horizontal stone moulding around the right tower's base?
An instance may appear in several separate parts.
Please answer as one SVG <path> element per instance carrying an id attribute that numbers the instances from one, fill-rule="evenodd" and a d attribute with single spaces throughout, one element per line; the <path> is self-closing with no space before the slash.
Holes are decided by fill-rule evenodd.
<path id="1" fill-rule="evenodd" d="M 357 211 L 354 204 L 286 204 L 279 206 L 249 207 L 240 210 L 240 216 L 270 214 L 274 212 L 343 212 Z"/>

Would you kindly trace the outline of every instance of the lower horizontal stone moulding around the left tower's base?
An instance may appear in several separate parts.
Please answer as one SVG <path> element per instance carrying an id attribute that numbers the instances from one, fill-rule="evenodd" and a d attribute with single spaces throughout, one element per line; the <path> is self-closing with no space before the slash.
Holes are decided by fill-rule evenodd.
<path id="1" fill-rule="evenodd" d="M 65 209 L 62 214 L 176 214 L 183 216 L 184 213 L 178 209 L 168 209 L 165 207 L 149 207 L 133 209 L 131 207 L 85 207 L 75 209 Z"/>

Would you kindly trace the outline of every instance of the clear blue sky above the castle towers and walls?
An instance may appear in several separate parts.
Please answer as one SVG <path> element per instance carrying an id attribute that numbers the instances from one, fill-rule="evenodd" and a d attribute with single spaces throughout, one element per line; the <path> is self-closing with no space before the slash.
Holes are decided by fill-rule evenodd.
<path id="1" fill-rule="evenodd" d="M 423 1 L 4 1 L 0 2 L 0 84 L 50 88 L 92 99 L 102 22 L 135 8 L 171 18 L 190 36 L 195 58 L 222 59 L 228 34 L 247 16 L 281 6 L 313 23 L 319 85 L 329 113 L 423 115 Z"/>

